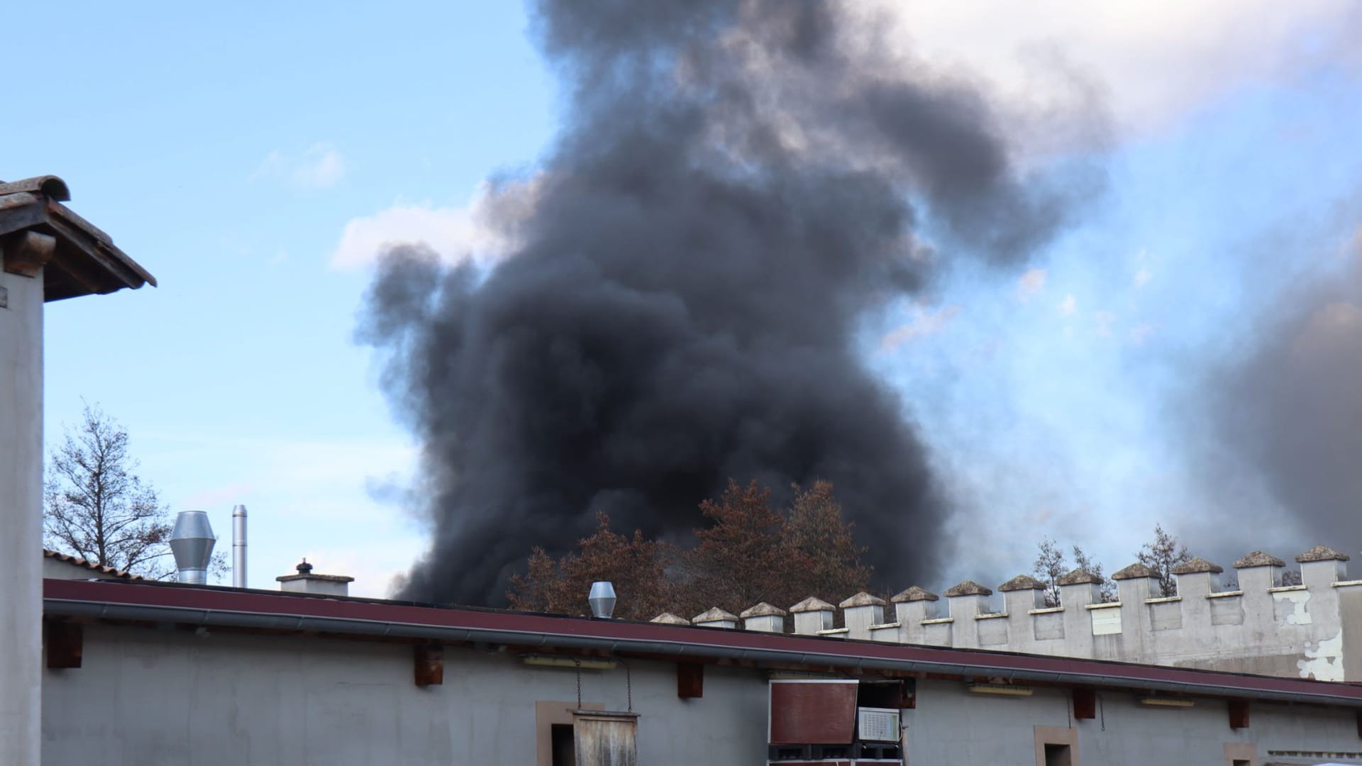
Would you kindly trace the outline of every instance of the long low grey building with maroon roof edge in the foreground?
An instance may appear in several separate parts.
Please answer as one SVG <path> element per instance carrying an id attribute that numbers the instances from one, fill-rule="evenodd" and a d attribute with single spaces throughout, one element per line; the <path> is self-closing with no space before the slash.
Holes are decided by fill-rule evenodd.
<path id="1" fill-rule="evenodd" d="M 46 579 L 44 763 L 1362 763 L 1352 684 L 350 598 L 300 574 Z"/>

